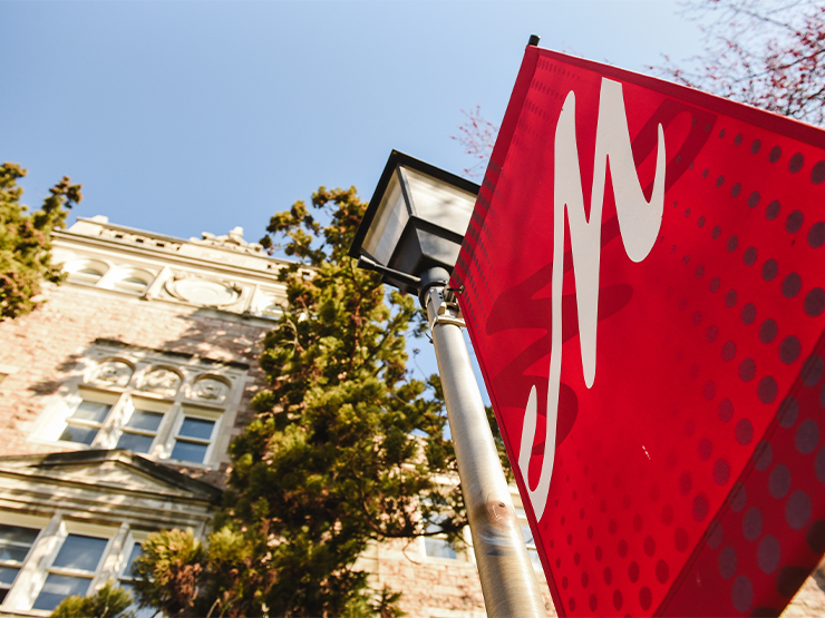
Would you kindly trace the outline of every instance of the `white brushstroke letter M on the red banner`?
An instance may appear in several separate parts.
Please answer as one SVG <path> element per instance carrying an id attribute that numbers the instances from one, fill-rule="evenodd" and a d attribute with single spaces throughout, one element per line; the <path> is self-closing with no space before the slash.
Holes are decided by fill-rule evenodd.
<path id="1" fill-rule="evenodd" d="M 530 487 L 528 468 L 536 433 L 537 403 L 535 385 L 530 391 L 522 426 L 518 468 L 530 494 L 536 521 L 542 519 L 550 492 L 555 458 L 556 418 L 562 371 L 562 282 L 564 274 L 564 213 L 570 224 L 570 241 L 575 273 L 576 305 L 579 308 L 579 339 L 582 350 L 582 370 L 588 389 L 595 380 L 595 341 L 599 318 L 599 264 L 601 258 L 602 205 L 608 159 L 613 179 L 613 195 L 619 218 L 619 230 L 624 251 L 633 262 L 644 259 L 653 248 L 661 227 L 664 206 L 664 131 L 659 125 L 656 176 L 650 202 L 644 199 L 633 164 L 633 151 L 624 111 L 622 85 L 602 78 L 599 99 L 599 119 L 595 133 L 593 190 L 590 220 L 584 213 L 579 148 L 575 139 L 575 95 L 567 94 L 555 133 L 554 195 L 553 195 L 553 274 L 552 274 L 552 335 L 550 379 L 547 382 L 547 424 L 544 436 L 542 473 L 535 489 Z"/>

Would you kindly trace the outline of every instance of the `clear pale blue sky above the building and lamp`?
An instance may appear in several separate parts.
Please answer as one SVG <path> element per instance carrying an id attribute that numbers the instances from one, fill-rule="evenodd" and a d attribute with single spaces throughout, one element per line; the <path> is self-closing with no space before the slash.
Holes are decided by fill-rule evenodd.
<path id="1" fill-rule="evenodd" d="M 469 167 L 462 109 L 499 124 L 531 33 L 642 72 L 701 51 L 670 0 L 0 0 L 0 160 L 32 206 L 67 174 L 74 216 L 258 241 L 320 185 L 369 199 L 392 148 Z"/>

